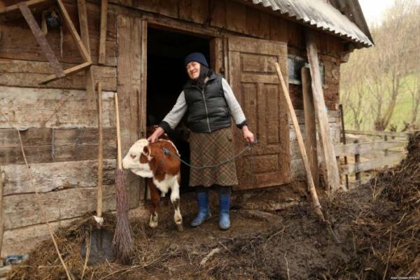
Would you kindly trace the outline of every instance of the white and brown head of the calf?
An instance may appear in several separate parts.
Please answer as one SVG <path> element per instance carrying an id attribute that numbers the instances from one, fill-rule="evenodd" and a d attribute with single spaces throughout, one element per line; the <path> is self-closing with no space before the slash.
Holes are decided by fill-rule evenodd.
<path id="1" fill-rule="evenodd" d="M 140 139 L 134 143 L 123 159 L 123 167 L 141 177 L 152 178 L 153 172 L 149 165 L 150 155 L 145 153 L 148 151 L 145 147 L 148 147 L 147 139 Z"/>

